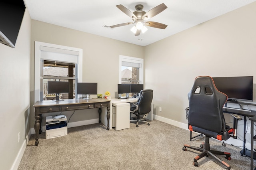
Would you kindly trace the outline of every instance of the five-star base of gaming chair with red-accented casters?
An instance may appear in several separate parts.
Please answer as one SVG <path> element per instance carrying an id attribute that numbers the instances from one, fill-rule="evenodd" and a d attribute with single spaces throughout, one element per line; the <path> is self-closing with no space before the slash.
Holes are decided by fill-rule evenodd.
<path id="1" fill-rule="evenodd" d="M 194 166 L 198 166 L 198 160 L 203 158 L 204 156 L 211 156 L 212 158 L 214 158 L 215 160 L 217 160 L 218 162 L 220 162 L 222 165 L 226 166 L 226 169 L 230 170 L 230 165 L 228 165 L 226 162 L 222 161 L 220 158 L 218 158 L 216 155 L 225 155 L 225 158 L 228 160 L 231 160 L 230 157 L 230 153 L 228 152 L 220 152 L 220 151 L 216 151 L 216 150 L 210 150 L 210 144 L 209 144 L 209 137 L 206 136 L 205 137 L 205 143 L 202 143 L 199 147 L 195 147 L 195 146 L 190 146 L 187 144 L 184 144 L 184 147 L 182 148 L 182 150 L 187 151 L 187 148 L 191 148 L 197 151 L 200 151 L 201 153 L 196 156 L 194 158 Z"/>

